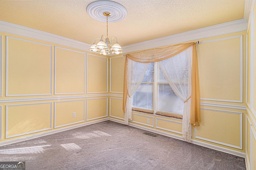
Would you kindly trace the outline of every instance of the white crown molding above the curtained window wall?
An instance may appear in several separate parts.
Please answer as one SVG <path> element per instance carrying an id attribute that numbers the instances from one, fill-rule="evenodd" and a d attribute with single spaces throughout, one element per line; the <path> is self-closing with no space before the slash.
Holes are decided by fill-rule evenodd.
<path id="1" fill-rule="evenodd" d="M 221 23 L 210 27 L 204 27 L 187 31 L 184 33 L 178 33 L 162 38 L 152 39 L 149 41 L 143 41 L 132 45 L 126 45 L 122 47 L 124 53 L 133 51 L 140 51 L 144 49 L 151 49 L 156 47 L 162 47 L 165 45 L 171 45 L 176 43 L 183 43 L 186 41 L 198 41 L 202 38 L 213 37 L 217 35 L 223 35 L 228 33 L 235 33 L 239 31 L 246 31 L 247 22 L 244 19 Z"/>

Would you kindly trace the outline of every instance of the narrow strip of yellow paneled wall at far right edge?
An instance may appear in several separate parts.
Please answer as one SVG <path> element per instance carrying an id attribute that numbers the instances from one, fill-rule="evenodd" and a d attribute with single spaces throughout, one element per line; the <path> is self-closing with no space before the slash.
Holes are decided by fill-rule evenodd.
<path id="1" fill-rule="evenodd" d="M 247 29 L 247 56 L 246 56 L 246 166 L 256 170 L 256 4 L 252 5 L 252 13 Z"/>

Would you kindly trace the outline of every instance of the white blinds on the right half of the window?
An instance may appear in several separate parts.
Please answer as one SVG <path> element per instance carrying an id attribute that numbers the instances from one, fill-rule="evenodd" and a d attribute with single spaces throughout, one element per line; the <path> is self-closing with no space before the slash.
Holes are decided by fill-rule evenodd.
<path id="1" fill-rule="evenodd" d="M 161 61 L 182 96 L 188 95 L 188 50 Z M 184 102 L 174 93 L 158 66 L 158 111 L 183 114 Z"/>

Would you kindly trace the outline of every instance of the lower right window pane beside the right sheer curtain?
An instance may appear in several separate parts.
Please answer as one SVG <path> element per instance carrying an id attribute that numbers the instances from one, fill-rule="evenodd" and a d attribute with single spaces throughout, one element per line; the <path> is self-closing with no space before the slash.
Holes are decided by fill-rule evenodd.
<path id="1" fill-rule="evenodd" d="M 184 102 L 173 92 L 169 84 L 158 84 L 158 111 L 183 114 Z"/>

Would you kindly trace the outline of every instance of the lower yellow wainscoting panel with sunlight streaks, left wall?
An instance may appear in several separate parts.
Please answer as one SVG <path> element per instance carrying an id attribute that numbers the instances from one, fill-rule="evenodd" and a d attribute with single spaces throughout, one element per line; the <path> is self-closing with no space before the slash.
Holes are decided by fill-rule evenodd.
<path id="1" fill-rule="evenodd" d="M 52 129 L 52 103 L 6 106 L 6 138 Z"/>

